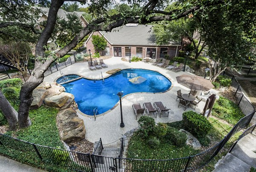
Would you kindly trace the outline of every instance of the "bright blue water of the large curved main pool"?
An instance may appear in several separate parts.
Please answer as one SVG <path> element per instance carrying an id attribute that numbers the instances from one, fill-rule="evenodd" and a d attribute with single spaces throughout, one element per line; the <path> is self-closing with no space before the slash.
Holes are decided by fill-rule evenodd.
<path id="1" fill-rule="evenodd" d="M 140 84 L 133 84 L 129 79 L 142 76 L 147 80 Z M 102 80 L 81 78 L 70 83 L 64 83 L 66 92 L 75 96 L 79 110 L 87 115 L 93 115 L 97 107 L 102 114 L 113 108 L 119 101 L 116 95 L 123 92 L 123 96 L 134 92 L 164 92 L 171 87 L 169 79 L 158 72 L 145 69 L 125 69 Z"/>

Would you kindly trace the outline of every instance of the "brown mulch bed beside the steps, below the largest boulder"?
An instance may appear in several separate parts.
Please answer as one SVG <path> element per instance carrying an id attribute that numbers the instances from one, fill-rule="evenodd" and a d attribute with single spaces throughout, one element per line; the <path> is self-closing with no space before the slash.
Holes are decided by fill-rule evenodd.
<path id="1" fill-rule="evenodd" d="M 68 146 L 72 151 L 90 153 L 90 154 L 93 153 L 93 143 L 91 143 L 86 139 L 70 143 Z"/>

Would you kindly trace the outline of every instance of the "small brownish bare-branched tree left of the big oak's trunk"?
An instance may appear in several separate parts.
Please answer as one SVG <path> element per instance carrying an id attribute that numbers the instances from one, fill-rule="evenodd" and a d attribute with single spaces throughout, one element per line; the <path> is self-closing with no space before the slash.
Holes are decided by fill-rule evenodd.
<path id="1" fill-rule="evenodd" d="M 30 46 L 24 42 L 0 43 L 0 54 L 6 57 L 15 66 L 22 75 L 27 72 L 27 65 L 24 62 L 29 61 L 32 56 Z"/>

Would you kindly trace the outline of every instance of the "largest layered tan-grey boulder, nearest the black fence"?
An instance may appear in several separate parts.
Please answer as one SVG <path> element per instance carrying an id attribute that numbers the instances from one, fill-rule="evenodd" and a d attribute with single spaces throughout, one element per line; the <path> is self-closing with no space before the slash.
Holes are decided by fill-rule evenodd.
<path id="1" fill-rule="evenodd" d="M 74 109 L 68 108 L 60 111 L 56 119 L 61 140 L 65 143 L 84 139 L 84 121 L 78 117 Z"/>

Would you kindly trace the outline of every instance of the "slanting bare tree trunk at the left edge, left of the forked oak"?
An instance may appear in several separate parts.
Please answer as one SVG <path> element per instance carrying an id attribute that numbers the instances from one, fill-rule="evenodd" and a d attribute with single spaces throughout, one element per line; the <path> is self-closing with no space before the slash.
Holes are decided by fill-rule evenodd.
<path id="1" fill-rule="evenodd" d="M 3 115 L 6 117 L 9 123 L 9 130 L 15 130 L 17 128 L 18 113 L 9 103 L 9 101 L 4 97 L 3 93 L 0 91 L 0 109 Z"/>

